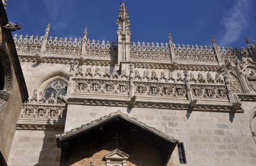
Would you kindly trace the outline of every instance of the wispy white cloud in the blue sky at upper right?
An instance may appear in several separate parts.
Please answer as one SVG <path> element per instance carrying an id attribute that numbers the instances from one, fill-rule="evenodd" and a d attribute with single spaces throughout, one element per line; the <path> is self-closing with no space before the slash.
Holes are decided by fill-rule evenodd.
<path id="1" fill-rule="evenodd" d="M 250 0 L 236 0 L 235 5 L 222 16 L 221 24 L 226 27 L 226 32 L 220 45 L 229 46 L 241 37 L 243 29 L 248 26 L 246 16 L 249 2 Z"/>

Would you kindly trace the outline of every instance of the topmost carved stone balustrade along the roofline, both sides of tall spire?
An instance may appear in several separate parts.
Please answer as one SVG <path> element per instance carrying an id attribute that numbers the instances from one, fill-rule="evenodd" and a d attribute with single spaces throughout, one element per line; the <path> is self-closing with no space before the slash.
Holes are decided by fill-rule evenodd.
<path id="1" fill-rule="evenodd" d="M 53 38 L 50 36 L 14 35 L 18 52 L 47 53 L 53 55 L 84 55 L 107 60 L 117 59 L 117 46 L 114 42 L 90 39 Z M 84 40 L 84 41 L 83 41 Z M 83 46 L 84 45 L 84 46 Z M 84 50 L 82 50 L 84 49 Z M 217 53 L 216 53 L 217 51 Z M 219 55 L 217 55 L 219 54 Z M 171 43 L 140 43 L 130 44 L 130 58 L 133 60 L 164 60 L 194 61 L 216 63 L 230 61 L 234 64 L 235 56 L 248 56 L 246 48 L 228 48 L 198 45 L 180 45 Z"/>

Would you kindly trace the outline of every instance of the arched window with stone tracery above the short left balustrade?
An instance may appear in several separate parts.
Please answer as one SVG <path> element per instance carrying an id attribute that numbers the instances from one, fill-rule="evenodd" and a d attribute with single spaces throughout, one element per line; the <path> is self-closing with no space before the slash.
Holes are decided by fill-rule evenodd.
<path id="1" fill-rule="evenodd" d="M 66 95 L 67 84 L 64 81 L 57 80 L 49 84 L 44 90 L 44 96 L 46 99 L 53 96 L 65 96 Z"/>

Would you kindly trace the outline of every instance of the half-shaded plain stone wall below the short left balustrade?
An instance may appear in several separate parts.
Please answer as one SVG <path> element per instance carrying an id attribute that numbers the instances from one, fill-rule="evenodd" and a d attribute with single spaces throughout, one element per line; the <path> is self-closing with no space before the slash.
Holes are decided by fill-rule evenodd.
<path id="1" fill-rule="evenodd" d="M 63 131 L 17 130 L 8 165 L 59 165 L 55 135 Z"/>

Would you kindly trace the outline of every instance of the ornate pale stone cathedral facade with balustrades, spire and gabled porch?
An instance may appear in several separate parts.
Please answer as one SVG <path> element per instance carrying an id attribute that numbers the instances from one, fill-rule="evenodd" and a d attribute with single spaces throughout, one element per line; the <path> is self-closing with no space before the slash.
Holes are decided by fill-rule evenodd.
<path id="1" fill-rule="evenodd" d="M 168 43 L 132 42 L 124 2 L 116 23 L 116 42 L 88 39 L 86 28 L 80 39 L 52 37 L 49 24 L 10 39 L 26 85 L 0 80 L 0 99 L 23 94 L 0 103 L 2 117 L 16 115 L 0 119 L 0 130 L 13 126 L 1 130 L 6 164 L 255 165 L 256 42 L 180 45 L 170 32 Z"/>

